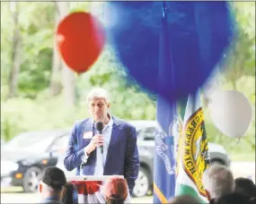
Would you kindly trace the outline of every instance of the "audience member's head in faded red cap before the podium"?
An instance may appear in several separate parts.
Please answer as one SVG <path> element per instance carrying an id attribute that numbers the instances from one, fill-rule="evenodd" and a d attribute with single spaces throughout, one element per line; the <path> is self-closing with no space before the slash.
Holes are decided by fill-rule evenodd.
<path id="1" fill-rule="evenodd" d="M 124 203 L 128 196 L 128 183 L 119 175 L 112 175 L 104 184 L 104 196 L 108 204 Z"/>

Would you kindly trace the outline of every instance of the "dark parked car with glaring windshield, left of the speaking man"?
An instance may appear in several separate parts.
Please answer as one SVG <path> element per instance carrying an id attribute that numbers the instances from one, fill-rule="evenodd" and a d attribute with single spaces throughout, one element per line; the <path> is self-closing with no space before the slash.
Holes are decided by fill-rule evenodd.
<path id="1" fill-rule="evenodd" d="M 65 150 L 66 144 L 60 140 L 65 134 L 68 132 L 24 132 L 5 143 L 1 149 L 1 186 L 37 191 L 43 170 L 56 166 L 58 154 Z"/>

